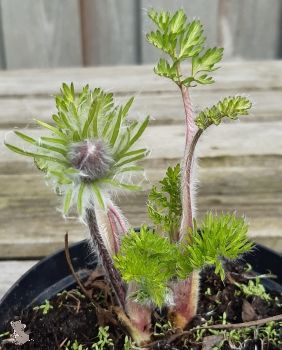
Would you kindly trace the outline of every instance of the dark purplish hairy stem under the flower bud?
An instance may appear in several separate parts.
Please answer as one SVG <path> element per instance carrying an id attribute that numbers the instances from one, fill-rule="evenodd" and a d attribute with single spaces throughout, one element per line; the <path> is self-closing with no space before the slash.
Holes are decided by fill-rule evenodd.
<path id="1" fill-rule="evenodd" d="M 103 242 L 94 209 L 86 209 L 86 221 L 90 231 L 91 242 L 101 258 L 103 268 L 108 275 L 119 304 L 122 309 L 125 310 L 126 286 L 121 279 L 119 271 L 114 266 L 112 258 Z"/>

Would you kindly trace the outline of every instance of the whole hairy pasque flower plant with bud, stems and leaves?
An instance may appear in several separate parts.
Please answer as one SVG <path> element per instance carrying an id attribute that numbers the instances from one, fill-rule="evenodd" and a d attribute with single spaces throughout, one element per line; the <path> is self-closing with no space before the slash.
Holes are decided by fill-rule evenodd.
<path id="1" fill-rule="evenodd" d="M 148 42 L 169 57 L 160 59 L 154 71 L 179 87 L 186 116 L 182 161 L 168 168 L 160 189 L 153 186 L 148 198 L 153 228 L 143 224 L 135 231 L 114 203 L 119 192 L 141 190 L 144 169 L 137 163 L 150 153 L 136 146 L 149 117 L 127 118 L 133 98 L 123 107 L 99 88 L 90 91 L 86 86 L 77 96 L 73 84 L 63 84 L 61 97 L 55 96 L 55 126 L 35 120 L 49 136 L 36 140 L 15 131 L 30 150 L 6 143 L 12 151 L 34 158 L 61 197 L 63 215 L 76 205 L 115 291 L 116 314 L 139 345 L 150 342 L 154 308 L 167 306 L 171 324 L 184 328 L 197 313 L 200 271 L 213 265 L 224 280 L 225 260 L 253 247 L 248 225 L 234 213 L 209 212 L 199 224 L 194 188 L 195 148 L 201 135 L 224 117 L 247 115 L 252 104 L 244 96 L 229 96 L 194 116 L 189 89 L 214 82 L 210 73 L 218 69 L 223 49 L 206 49 L 202 24 L 187 23 L 183 10 L 172 16 L 151 9 L 148 16 L 157 26 L 147 34 Z M 191 61 L 189 74 L 182 73 L 186 60 Z"/>

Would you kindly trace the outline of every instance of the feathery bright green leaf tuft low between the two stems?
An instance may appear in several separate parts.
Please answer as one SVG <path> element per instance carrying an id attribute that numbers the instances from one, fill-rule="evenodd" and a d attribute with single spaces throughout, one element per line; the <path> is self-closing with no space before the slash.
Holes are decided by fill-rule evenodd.
<path id="1" fill-rule="evenodd" d="M 175 273 L 178 248 L 168 238 L 160 237 L 142 225 L 122 238 L 120 252 L 114 256 L 115 266 L 125 282 L 135 281 L 139 290 L 131 295 L 140 303 L 161 306 L 168 293 L 167 281 Z"/>

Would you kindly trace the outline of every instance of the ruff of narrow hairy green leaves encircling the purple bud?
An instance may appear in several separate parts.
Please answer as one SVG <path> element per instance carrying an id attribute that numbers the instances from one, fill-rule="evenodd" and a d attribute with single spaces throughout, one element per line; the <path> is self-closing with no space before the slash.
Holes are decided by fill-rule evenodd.
<path id="1" fill-rule="evenodd" d="M 124 107 L 114 104 L 113 94 L 96 88 L 90 91 L 88 85 L 76 97 L 74 85 L 63 84 L 62 96 L 55 96 L 57 114 L 53 115 L 55 126 L 35 120 L 48 130 L 50 135 L 35 140 L 19 131 L 16 135 L 31 144 L 31 151 L 6 144 L 12 151 L 34 158 L 38 169 L 46 173 L 46 180 L 62 196 L 63 214 L 73 203 L 82 215 L 84 204 L 97 202 L 105 209 L 105 200 L 117 190 L 140 190 L 132 183 L 132 175 L 143 172 L 135 163 L 148 155 L 145 148 L 133 148 L 146 129 L 149 117 L 129 123 L 128 111 L 133 103 L 131 98 Z M 95 179 L 85 179 L 85 173 L 72 166 L 70 150 L 87 140 L 103 142 L 110 157 L 109 170 Z M 94 142 L 94 141 L 93 141 Z M 108 154 L 109 153 L 109 154 Z M 103 155 L 102 155 L 103 157 Z M 103 158 L 100 161 L 102 164 Z M 95 164 L 92 165 L 95 169 Z"/>

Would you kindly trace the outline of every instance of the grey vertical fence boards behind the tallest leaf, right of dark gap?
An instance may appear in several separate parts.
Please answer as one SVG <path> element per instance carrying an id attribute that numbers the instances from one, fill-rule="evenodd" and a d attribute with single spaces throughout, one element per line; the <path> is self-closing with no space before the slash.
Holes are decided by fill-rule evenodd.
<path id="1" fill-rule="evenodd" d="M 224 47 L 224 60 L 262 60 L 279 57 L 282 9 L 280 0 L 272 1 L 271 6 L 264 0 L 152 0 L 149 4 L 142 0 L 141 3 L 147 10 L 152 6 L 157 11 L 164 9 L 171 13 L 183 8 L 189 19 L 200 18 L 204 25 L 204 35 L 207 36 L 207 47 Z M 155 30 L 145 14 L 141 20 L 145 33 Z M 156 62 L 160 50 L 148 44 L 144 36 L 141 44 L 142 62 Z"/>

